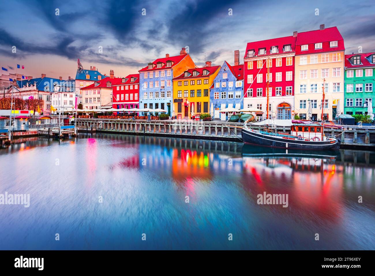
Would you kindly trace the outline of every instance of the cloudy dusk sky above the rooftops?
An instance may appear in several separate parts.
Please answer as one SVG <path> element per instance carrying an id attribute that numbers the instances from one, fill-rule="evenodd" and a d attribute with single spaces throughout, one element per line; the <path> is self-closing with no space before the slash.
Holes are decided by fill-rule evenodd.
<path id="1" fill-rule="evenodd" d="M 320 24 L 338 27 L 346 54 L 375 52 L 373 0 L 0 0 L 0 18 L 0 66 L 64 80 L 75 77 L 78 58 L 85 69 L 126 77 L 185 46 L 199 67 L 233 65 L 248 42 Z"/>

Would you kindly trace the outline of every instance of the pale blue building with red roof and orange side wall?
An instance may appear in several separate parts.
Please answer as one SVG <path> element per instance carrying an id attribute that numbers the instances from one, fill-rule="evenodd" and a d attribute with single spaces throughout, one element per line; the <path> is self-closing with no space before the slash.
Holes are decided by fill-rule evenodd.
<path id="1" fill-rule="evenodd" d="M 189 68 L 195 68 L 195 63 L 186 49 L 182 48 L 180 55 L 158 58 L 139 70 L 139 108 L 167 110 L 172 115 L 173 109 L 173 78 L 181 75 Z"/>

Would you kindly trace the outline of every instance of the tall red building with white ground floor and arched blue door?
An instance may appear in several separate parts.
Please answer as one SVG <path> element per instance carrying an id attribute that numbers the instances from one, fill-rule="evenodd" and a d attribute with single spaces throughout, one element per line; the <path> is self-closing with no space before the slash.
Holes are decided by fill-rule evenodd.
<path id="1" fill-rule="evenodd" d="M 249 42 L 244 57 L 244 108 L 267 114 L 267 68 L 270 69 L 269 117 L 290 119 L 294 110 L 294 56 L 297 32 L 293 36 Z M 268 59 L 269 58 L 269 59 Z M 269 60 L 269 61 L 267 61 Z"/>

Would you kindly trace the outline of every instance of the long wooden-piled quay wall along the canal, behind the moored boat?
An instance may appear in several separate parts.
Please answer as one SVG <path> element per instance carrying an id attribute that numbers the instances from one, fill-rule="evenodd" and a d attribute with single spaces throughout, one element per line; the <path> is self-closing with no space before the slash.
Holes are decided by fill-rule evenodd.
<path id="1" fill-rule="evenodd" d="M 98 131 L 223 141 L 242 141 L 240 127 L 243 127 L 243 123 L 226 123 L 226 121 L 77 119 L 77 129 L 80 132 Z M 260 126 L 249 124 L 248 127 L 260 129 Z M 325 134 L 335 135 L 341 139 L 342 148 L 375 148 L 375 127 L 344 127 L 345 131 L 325 129 Z M 276 129 L 279 132 L 290 132 L 290 127 L 276 127 Z"/>

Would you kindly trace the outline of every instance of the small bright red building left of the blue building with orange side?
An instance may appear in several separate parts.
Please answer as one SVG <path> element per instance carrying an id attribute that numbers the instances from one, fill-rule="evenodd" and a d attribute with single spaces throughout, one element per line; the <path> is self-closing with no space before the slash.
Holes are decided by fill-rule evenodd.
<path id="1" fill-rule="evenodd" d="M 138 108 L 139 74 L 122 78 L 121 83 L 113 85 L 113 108 Z"/>

